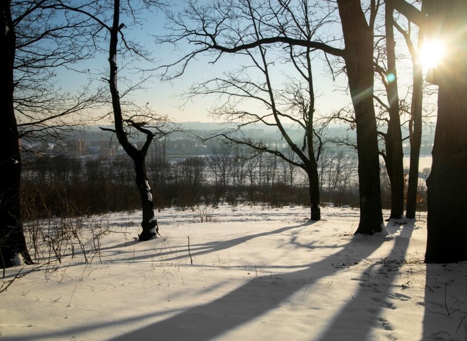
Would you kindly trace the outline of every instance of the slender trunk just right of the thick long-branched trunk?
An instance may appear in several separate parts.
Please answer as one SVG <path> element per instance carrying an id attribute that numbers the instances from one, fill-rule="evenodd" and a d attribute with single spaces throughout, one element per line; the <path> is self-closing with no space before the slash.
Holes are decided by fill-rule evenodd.
<path id="1" fill-rule="evenodd" d="M 386 4 L 386 54 L 388 58 L 387 93 L 389 102 L 389 124 L 386 136 L 387 170 L 391 182 L 391 215 L 399 219 L 404 214 L 404 153 L 400 131 L 399 95 L 395 67 L 395 40 L 393 28 L 394 9 Z"/>

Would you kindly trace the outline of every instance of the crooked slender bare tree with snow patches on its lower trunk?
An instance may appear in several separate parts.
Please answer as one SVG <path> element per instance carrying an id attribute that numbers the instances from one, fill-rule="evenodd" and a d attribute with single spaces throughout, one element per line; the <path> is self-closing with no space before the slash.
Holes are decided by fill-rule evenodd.
<path id="1" fill-rule="evenodd" d="M 162 2 L 157 0 L 145 0 L 145 10 L 162 5 Z M 154 216 L 154 202 L 152 190 L 149 186 L 149 181 L 146 173 L 145 159 L 151 145 L 155 138 L 162 138 L 169 133 L 169 122 L 166 117 L 157 116 L 148 107 L 138 107 L 132 103 L 125 102 L 122 98 L 135 86 L 129 86 L 123 94 L 118 90 L 118 62 L 117 57 L 120 53 L 137 56 L 145 61 L 151 61 L 147 57 L 142 46 L 126 39 L 123 34 L 123 29 L 126 27 L 120 21 L 120 14 L 125 11 L 127 19 L 132 20 L 132 25 L 138 24 L 138 13 L 141 8 L 134 7 L 131 3 L 126 3 L 126 7 L 121 6 L 119 0 L 114 0 L 112 5 L 107 7 L 105 3 L 99 1 L 84 3 L 81 6 L 70 6 L 65 2 L 60 1 L 55 5 L 55 8 L 61 10 L 68 10 L 90 18 L 91 21 L 96 23 L 100 31 L 103 31 L 104 39 L 108 43 L 108 87 L 111 96 L 111 104 L 113 110 L 114 128 L 101 128 L 102 130 L 111 131 L 116 134 L 120 145 L 125 152 L 133 160 L 136 175 L 136 185 L 140 194 L 143 219 L 141 226 L 143 231 L 139 234 L 140 241 L 146 241 L 152 238 L 157 233 L 157 220 Z M 109 13 L 111 13 L 109 15 Z M 108 23 L 107 23 L 108 22 Z M 121 39 L 121 42 L 119 42 Z M 143 82 L 141 80 L 141 82 Z M 139 83 L 141 84 L 141 83 Z M 139 86 L 136 86 L 136 88 Z M 136 138 L 144 136 L 144 143 L 141 148 L 136 146 Z"/>

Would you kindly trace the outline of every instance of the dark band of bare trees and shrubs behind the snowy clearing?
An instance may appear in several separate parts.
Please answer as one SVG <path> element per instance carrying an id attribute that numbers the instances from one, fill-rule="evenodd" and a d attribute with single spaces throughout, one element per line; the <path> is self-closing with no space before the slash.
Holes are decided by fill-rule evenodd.
<path id="1" fill-rule="evenodd" d="M 305 173 L 271 154 L 219 145 L 204 157 L 167 161 L 156 154 L 146 163 L 157 208 L 215 207 L 220 202 L 309 206 Z M 319 160 L 323 205 L 358 207 L 357 159 L 342 150 L 324 150 Z M 383 206 L 390 206 L 390 187 L 382 168 Z M 424 209 L 420 186 L 420 209 Z M 99 214 L 140 208 L 132 161 L 111 158 L 37 156 L 22 171 L 23 216 Z"/>

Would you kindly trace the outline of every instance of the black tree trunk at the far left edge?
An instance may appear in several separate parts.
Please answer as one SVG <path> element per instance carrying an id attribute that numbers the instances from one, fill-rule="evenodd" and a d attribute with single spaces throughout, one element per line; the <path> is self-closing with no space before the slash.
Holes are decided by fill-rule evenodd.
<path id="1" fill-rule="evenodd" d="M 32 264 L 24 239 L 20 217 L 19 181 L 21 159 L 19 138 L 13 105 L 13 65 L 16 36 L 11 19 L 10 1 L 0 4 L 0 46 L 3 62 L 0 66 L 0 267 L 15 265 L 14 258 L 20 254 L 26 264 Z"/>

